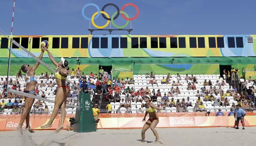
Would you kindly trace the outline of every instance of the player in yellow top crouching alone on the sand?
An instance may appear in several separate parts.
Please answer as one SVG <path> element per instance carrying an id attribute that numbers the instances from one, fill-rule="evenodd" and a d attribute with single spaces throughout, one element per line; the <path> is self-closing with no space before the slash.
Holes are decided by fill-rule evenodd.
<path id="1" fill-rule="evenodd" d="M 156 113 L 156 110 L 162 110 L 161 108 L 157 107 L 155 104 L 151 103 L 151 98 L 149 95 L 147 95 L 145 97 L 145 102 L 146 102 L 146 113 L 145 113 L 145 116 L 142 120 L 142 122 L 145 122 L 146 121 L 146 116 L 147 114 L 149 115 L 149 119 L 147 120 L 147 122 L 144 124 L 143 128 L 142 128 L 142 131 L 141 131 L 141 136 L 142 136 L 142 142 L 144 142 L 145 140 L 145 132 L 148 130 L 148 128 L 150 128 L 155 137 L 156 137 L 156 140 L 155 142 L 159 142 L 159 143 L 162 143 L 160 140 L 159 140 L 159 136 L 158 136 L 158 133 L 157 133 L 157 130 L 155 130 L 155 127 L 157 126 L 157 124 L 159 123 L 159 119 L 158 119 L 158 116 L 157 116 L 157 113 Z M 162 143 L 163 144 L 163 143 Z"/>

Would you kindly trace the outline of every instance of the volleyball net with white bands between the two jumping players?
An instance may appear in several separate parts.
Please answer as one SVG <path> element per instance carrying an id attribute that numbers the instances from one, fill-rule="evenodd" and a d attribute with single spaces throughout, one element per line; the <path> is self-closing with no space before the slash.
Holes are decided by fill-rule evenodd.
<path id="1" fill-rule="evenodd" d="M 53 84 L 54 83 L 53 79 L 45 79 L 45 78 L 39 79 L 39 77 L 40 77 L 41 73 L 45 74 L 47 72 L 49 75 L 51 72 L 55 73 L 55 69 L 53 69 L 53 67 L 55 68 L 55 66 L 46 64 L 44 61 L 39 59 L 37 56 L 35 56 L 33 53 L 31 53 L 25 47 L 20 45 L 17 41 L 15 41 L 15 39 L 9 38 L 7 35 L 5 35 L 4 32 L 0 31 L 0 35 L 3 35 L 5 38 L 8 38 L 11 41 L 11 46 L 9 48 L 11 57 L 9 58 L 10 61 L 8 64 L 8 74 L 7 74 L 8 83 L 7 83 L 7 89 L 6 89 L 7 92 L 11 92 L 11 93 L 14 93 L 14 94 L 17 94 L 20 96 L 31 97 L 34 99 L 54 103 L 54 100 L 50 100 L 50 99 L 42 98 L 40 96 L 35 96 L 35 95 L 31 95 L 31 94 L 22 92 L 24 90 L 24 88 L 26 87 L 25 73 L 22 72 L 21 78 L 17 77 L 17 73 L 21 69 L 22 65 L 25 64 L 25 65 L 34 66 L 35 63 L 38 61 L 38 62 L 40 62 L 40 64 L 39 64 L 38 68 L 35 70 L 35 74 L 37 75 L 37 82 L 40 83 L 40 81 L 45 82 L 46 80 L 49 80 L 49 82 L 51 82 L 51 84 Z M 38 56 L 39 56 L 39 54 L 40 53 L 38 53 Z M 70 85 L 73 85 L 75 88 L 80 89 L 78 87 L 78 85 L 74 84 L 70 80 L 67 79 L 66 81 L 69 82 Z M 19 86 L 17 87 L 17 85 L 19 85 Z M 46 84 L 46 88 L 45 87 L 41 88 L 40 86 L 38 86 L 38 90 L 48 93 L 47 87 L 48 87 L 47 84 Z M 20 88 L 20 89 L 18 89 L 18 88 Z M 50 90 L 53 91 L 54 89 L 56 89 L 56 87 L 52 87 Z M 49 92 L 49 96 L 53 97 L 53 93 Z M 51 98 L 51 99 L 53 99 L 53 98 Z M 76 105 L 67 104 L 67 106 L 79 108 Z"/>

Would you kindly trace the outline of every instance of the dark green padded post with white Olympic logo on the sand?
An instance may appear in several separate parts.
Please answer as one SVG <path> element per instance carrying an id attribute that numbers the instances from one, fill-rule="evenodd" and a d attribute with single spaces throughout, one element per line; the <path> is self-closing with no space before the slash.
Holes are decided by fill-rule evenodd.
<path id="1" fill-rule="evenodd" d="M 79 93 L 78 106 L 80 109 L 76 108 L 74 132 L 96 131 L 89 93 Z"/>

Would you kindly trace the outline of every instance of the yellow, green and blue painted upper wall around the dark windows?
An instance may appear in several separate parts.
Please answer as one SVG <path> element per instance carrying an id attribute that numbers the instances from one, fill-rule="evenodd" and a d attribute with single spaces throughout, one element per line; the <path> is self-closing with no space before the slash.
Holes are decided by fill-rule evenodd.
<path id="1" fill-rule="evenodd" d="M 49 50 L 54 57 L 256 56 L 256 35 L 21 35 L 14 36 L 14 38 L 36 56 L 40 53 L 39 44 L 44 39 L 48 39 Z M 22 42 L 21 38 L 27 38 L 23 39 L 26 42 Z M 30 38 L 31 43 L 29 45 Z M 93 38 L 96 38 L 94 43 Z M 104 42 L 101 41 L 102 38 L 107 39 L 104 39 Z M 116 39 L 114 43 L 112 43 L 113 38 Z M 125 40 L 121 40 L 121 38 L 125 38 Z M 135 39 L 133 40 L 133 38 Z M 153 43 L 152 38 L 155 39 Z M 171 38 L 177 39 L 174 42 L 176 47 L 171 47 Z M 179 38 L 184 38 L 182 46 Z M 212 38 L 214 38 L 214 41 Z M 218 41 L 218 38 L 222 38 L 223 41 Z M 234 40 L 233 45 L 229 46 L 229 38 Z M 248 38 L 252 38 L 252 41 L 248 41 Z M 194 40 L 194 46 L 191 45 L 192 40 Z M 211 40 L 211 46 L 209 40 Z M 8 49 L 10 48 L 8 44 L 10 44 L 10 41 L 6 41 L 3 36 L 0 36 L 0 57 L 8 57 Z M 114 47 L 112 44 L 114 44 Z M 25 57 L 19 54 L 18 49 L 12 51 L 13 57 Z M 45 53 L 44 57 L 48 57 L 48 55 Z"/>

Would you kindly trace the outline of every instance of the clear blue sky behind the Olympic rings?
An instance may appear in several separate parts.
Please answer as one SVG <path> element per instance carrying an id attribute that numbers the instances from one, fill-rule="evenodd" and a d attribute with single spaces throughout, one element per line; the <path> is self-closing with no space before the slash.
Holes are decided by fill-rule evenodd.
<path id="1" fill-rule="evenodd" d="M 140 14 L 132 21 L 133 35 L 256 34 L 255 0 L 16 0 L 13 34 L 87 35 L 89 21 L 82 17 L 82 8 L 88 3 L 100 9 L 107 3 L 120 9 L 126 3 L 136 4 Z M 0 29 L 7 34 L 11 33 L 12 7 L 13 0 L 1 0 Z M 90 17 L 96 11 L 90 6 L 84 12 Z M 105 11 L 111 16 L 116 9 L 107 7 Z M 130 18 L 136 15 L 131 6 L 124 11 Z M 106 20 L 99 16 L 95 22 L 103 25 Z M 118 25 L 125 22 L 121 15 L 115 20 Z"/>

